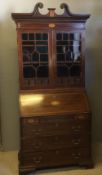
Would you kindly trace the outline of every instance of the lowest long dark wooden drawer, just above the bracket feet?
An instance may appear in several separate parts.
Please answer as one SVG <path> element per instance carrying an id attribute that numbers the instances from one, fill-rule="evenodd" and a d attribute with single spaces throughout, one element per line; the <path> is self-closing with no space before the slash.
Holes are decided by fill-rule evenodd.
<path id="1" fill-rule="evenodd" d="M 90 158 L 88 148 L 82 149 L 57 149 L 45 152 L 33 152 L 20 154 L 22 165 L 33 165 L 36 168 L 54 167 L 70 164 L 78 164 L 81 160 Z"/>

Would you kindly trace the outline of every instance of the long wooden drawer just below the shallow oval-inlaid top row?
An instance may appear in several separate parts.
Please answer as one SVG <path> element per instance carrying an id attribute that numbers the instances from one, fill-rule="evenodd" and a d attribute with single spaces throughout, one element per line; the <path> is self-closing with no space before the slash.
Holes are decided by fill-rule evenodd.
<path id="1" fill-rule="evenodd" d="M 50 136 L 50 135 L 71 135 L 71 134 L 90 134 L 90 128 L 85 125 L 67 125 L 67 126 L 53 126 L 50 127 L 26 127 L 22 126 L 21 128 L 21 137 L 28 136 L 28 137 L 37 137 L 37 136 Z"/>

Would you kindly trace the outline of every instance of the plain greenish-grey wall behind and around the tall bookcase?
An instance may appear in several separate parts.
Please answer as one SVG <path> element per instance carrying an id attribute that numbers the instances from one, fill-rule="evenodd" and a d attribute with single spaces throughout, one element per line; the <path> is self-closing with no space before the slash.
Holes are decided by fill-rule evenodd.
<path id="1" fill-rule="evenodd" d="M 102 141 L 102 0 L 39 0 L 42 13 L 62 2 L 73 13 L 91 14 L 86 23 L 86 90 L 92 109 L 93 143 Z M 33 11 L 38 0 L 0 0 L 0 98 L 2 136 L 5 150 L 19 149 L 19 79 L 16 25 L 12 12 Z"/>

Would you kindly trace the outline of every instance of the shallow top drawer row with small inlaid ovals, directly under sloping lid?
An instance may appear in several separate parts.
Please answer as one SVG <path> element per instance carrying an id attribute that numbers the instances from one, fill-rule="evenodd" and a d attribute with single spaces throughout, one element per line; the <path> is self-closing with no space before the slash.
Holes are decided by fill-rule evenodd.
<path id="1" fill-rule="evenodd" d="M 53 115 L 53 116 L 39 116 L 39 117 L 27 117 L 21 118 L 21 125 L 24 124 L 25 126 L 39 126 L 39 125 L 50 125 L 51 127 L 53 125 L 68 125 L 71 124 L 73 122 L 75 122 L 76 124 L 81 124 L 81 123 L 87 123 L 87 121 L 90 120 L 89 115 L 87 114 L 77 114 L 77 115 L 62 115 L 62 116 L 57 116 L 57 115 Z"/>

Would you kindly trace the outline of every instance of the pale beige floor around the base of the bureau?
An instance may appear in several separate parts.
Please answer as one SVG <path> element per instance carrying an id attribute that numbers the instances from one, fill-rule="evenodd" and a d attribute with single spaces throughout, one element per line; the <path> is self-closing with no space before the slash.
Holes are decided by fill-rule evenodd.
<path id="1" fill-rule="evenodd" d="M 17 151 L 0 152 L 0 175 L 18 175 L 17 154 Z M 35 175 L 102 175 L 102 144 L 96 147 L 93 155 L 95 164 L 93 169 L 80 167 L 48 169 L 37 171 Z"/>

